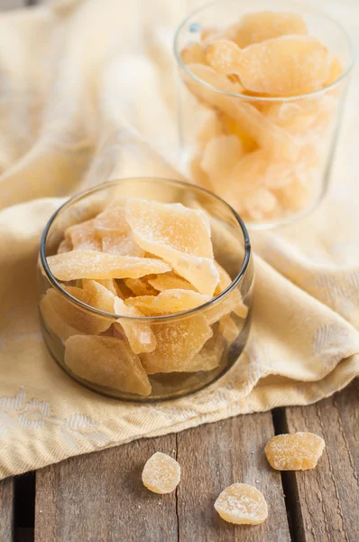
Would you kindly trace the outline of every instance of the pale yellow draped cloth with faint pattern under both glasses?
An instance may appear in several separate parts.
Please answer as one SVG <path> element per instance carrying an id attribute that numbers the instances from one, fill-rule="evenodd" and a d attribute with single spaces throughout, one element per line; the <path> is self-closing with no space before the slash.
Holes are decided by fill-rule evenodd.
<path id="1" fill-rule="evenodd" d="M 194 6 L 83 0 L 0 15 L 0 477 L 305 405 L 359 373 L 357 71 L 330 196 L 307 220 L 252 235 L 253 331 L 225 378 L 173 402 L 125 404 L 69 379 L 41 340 L 35 266 L 58 197 L 122 175 L 179 177 L 171 42 Z M 356 0 L 330 9 L 357 45 Z"/>

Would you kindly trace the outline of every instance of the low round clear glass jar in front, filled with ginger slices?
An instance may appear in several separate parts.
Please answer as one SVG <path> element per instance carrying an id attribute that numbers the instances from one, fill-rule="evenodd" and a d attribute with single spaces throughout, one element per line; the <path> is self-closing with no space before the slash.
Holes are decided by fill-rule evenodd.
<path id="1" fill-rule="evenodd" d="M 61 285 L 51 275 L 46 258 L 57 253 L 69 226 L 95 217 L 119 196 L 180 202 L 186 207 L 204 210 L 211 226 L 216 261 L 233 282 L 221 294 L 191 311 L 157 317 L 133 318 L 105 313 L 73 297 L 65 287 L 79 284 Z M 69 200 L 55 212 L 44 229 L 38 279 L 41 329 L 52 357 L 71 378 L 107 396 L 135 401 L 185 396 L 221 377 L 244 350 L 253 295 L 253 261 L 247 231 L 243 221 L 225 201 L 188 183 L 156 178 L 124 179 L 98 185 Z M 151 328 L 157 339 L 156 349 L 151 354 L 139 356 L 129 351 L 125 337 L 118 332 L 118 326 L 115 327 L 116 321 L 144 334 Z M 153 363 L 158 367 L 158 372 L 144 375 L 141 377 L 144 380 L 140 384 L 137 382 L 135 386 L 139 386 L 139 393 L 125 381 L 125 376 L 122 379 L 120 370 L 108 369 L 101 356 L 98 371 L 88 373 L 87 378 L 79 374 L 81 371 L 77 374 L 76 370 L 69 369 L 69 356 L 72 368 L 78 360 L 83 363 L 88 349 L 102 336 L 113 338 L 111 349 L 115 348 L 115 355 L 118 351 L 124 354 L 124 364 L 134 363 L 143 370 L 142 366 L 146 369 L 150 360 L 152 367 Z M 163 372 L 163 362 L 166 365 L 169 360 L 174 360 L 176 369 Z"/>

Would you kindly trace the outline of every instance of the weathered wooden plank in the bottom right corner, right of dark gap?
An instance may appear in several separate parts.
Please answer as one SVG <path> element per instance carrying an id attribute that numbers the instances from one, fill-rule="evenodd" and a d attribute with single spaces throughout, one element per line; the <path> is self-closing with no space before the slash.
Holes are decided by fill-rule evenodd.
<path id="1" fill-rule="evenodd" d="M 286 474 L 298 542 L 359 540 L 359 379 L 316 405 L 286 408 L 290 433 L 311 431 L 327 448 L 317 469 Z M 285 430 L 286 427 L 283 427 Z"/>

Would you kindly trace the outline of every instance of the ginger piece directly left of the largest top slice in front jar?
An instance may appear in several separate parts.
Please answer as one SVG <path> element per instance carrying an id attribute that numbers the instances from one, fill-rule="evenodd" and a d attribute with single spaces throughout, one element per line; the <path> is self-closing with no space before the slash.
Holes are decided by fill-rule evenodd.
<path id="1" fill-rule="evenodd" d="M 97 215 L 95 229 L 102 239 L 102 249 L 110 254 L 143 257 L 144 250 L 133 239 L 125 216 L 125 202 L 107 207 Z"/>

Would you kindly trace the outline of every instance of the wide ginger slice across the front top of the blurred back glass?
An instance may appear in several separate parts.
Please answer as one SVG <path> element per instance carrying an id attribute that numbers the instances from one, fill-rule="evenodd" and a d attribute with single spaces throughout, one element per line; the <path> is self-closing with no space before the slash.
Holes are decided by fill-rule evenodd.
<path id="1" fill-rule="evenodd" d="M 258 94 L 308 93 L 320 89 L 329 74 L 327 47 L 308 36 L 281 36 L 245 49 L 222 40 L 208 46 L 207 59 L 220 73 L 237 74 L 245 89 Z"/>

